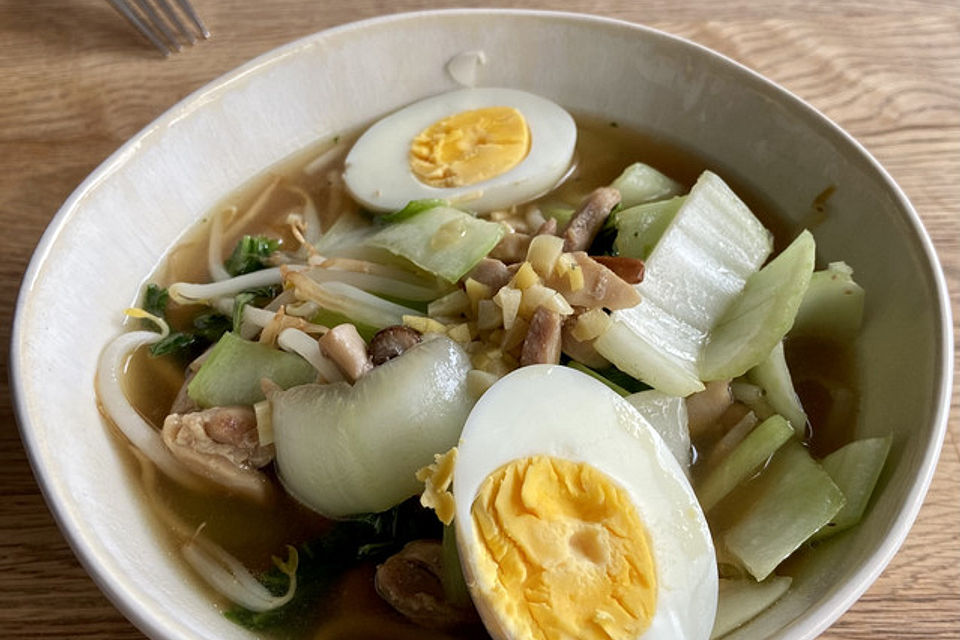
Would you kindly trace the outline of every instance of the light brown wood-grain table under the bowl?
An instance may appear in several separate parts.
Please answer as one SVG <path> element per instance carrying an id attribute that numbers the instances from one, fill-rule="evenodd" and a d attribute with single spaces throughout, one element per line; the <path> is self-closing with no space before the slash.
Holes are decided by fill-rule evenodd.
<path id="1" fill-rule="evenodd" d="M 193 2 L 214 37 L 168 60 L 105 2 L 0 2 L 0 344 L 9 343 L 20 280 L 51 217 L 90 171 L 169 106 L 303 35 L 382 13 L 457 5 Z M 955 294 L 954 317 L 960 316 L 956 0 L 487 4 L 644 22 L 725 53 L 810 101 L 864 143 L 912 199 Z M 0 637 L 142 637 L 77 564 L 51 518 L 14 423 L 7 367 L 0 371 Z M 876 584 L 823 637 L 960 638 L 956 400 L 936 477 L 910 536 Z"/>

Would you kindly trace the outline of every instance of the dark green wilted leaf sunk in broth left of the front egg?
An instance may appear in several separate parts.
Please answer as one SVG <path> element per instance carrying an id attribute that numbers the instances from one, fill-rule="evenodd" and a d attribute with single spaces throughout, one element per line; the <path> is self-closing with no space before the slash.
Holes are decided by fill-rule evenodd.
<path id="1" fill-rule="evenodd" d="M 329 600 L 325 596 L 344 571 L 357 561 L 382 562 L 412 540 L 439 539 L 442 525 L 432 511 L 411 498 L 382 513 L 370 513 L 332 523 L 321 537 L 297 548 L 296 595 L 288 604 L 257 613 L 240 606 L 224 614 L 251 631 L 271 631 L 276 637 L 302 635 Z M 277 567 L 258 576 L 273 594 L 286 591 L 289 577 Z M 271 636 L 273 637 L 273 636 Z"/>

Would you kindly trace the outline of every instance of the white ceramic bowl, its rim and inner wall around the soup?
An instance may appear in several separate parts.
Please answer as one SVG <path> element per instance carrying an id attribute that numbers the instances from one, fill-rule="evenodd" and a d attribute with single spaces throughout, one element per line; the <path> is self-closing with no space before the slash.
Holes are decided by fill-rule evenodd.
<path id="1" fill-rule="evenodd" d="M 411 47 L 414 37 L 429 46 Z M 444 66 L 466 50 L 486 53 L 481 84 L 525 89 L 695 150 L 793 220 L 837 185 L 816 229 L 819 259 L 846 260 L 867 291 L 858 435 L 893 433 L 894 446 L 866 521 L 819 550 L 789 594 L 736 634 L 815 637 L 894 555 L 933 474 L 952 334 L 930 240 L 876 161 L 809 105 L 703 47 L 580 15 L 429 12 L 309 36 L 188 97 L 77 189 L 26 274 L 11 357 L 23 440 L 64 534 L 147 635 L 253 637 L 198 595 L 158 544 L 97 413 L 97 356 L 164 252 L 218 199 L 320 137 L 454 88 Z"/>

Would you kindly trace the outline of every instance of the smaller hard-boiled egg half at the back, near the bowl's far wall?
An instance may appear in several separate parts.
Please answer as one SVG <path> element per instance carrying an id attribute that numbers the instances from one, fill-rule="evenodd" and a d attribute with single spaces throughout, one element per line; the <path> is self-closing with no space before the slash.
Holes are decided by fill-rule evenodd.
<path id="1" fill-rule="evenodd" d="M 553 188 L 573 159 L 577 128 L 540 96 L 469 88 L 415 102 L 367 129 L 347 154 L 344 181 L 374 211 L 442 198 L 502 209 Z"/>

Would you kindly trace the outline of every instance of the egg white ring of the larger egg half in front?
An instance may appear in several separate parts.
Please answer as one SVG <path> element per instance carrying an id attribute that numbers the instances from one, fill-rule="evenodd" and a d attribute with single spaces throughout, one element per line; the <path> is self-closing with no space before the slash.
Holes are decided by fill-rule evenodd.
<path id="1" fill-rule="evenodd" d="M 585 462 L 620 485 L 647 528 L 657 572 L 656 613 L 645 640 L 706 640 L 717 606 L 716 555 L 683 470 L 653 427 L 602 383 L 568 367 L 535 365 L 480 398 L 460 437 L 454 472 L 456 532 L 474 604 L 494 638 L 508 638 L 477 571 L 471 506 L 504 464 L 534 455 Z"/>

